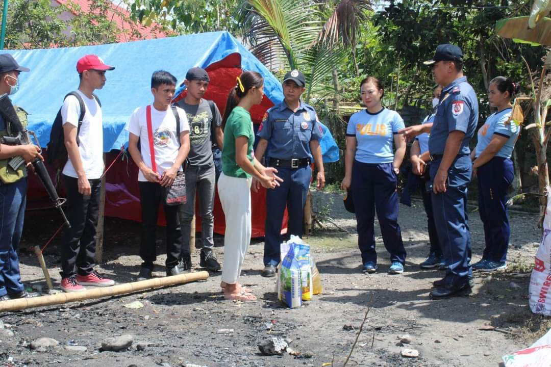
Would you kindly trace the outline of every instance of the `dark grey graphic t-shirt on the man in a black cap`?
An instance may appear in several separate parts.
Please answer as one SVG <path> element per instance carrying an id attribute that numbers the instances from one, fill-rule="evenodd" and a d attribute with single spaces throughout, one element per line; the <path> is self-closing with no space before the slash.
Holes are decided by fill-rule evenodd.
<path id="1" fill-rule="evenodd" d="M 190 124 L 190 154 L 187 159 L 192 166 L 210 166 L 212 160 L 212 125 L 222 125 L 222 116 L 218 107 L 214 105 L 214 115 L 209 102 L 201 99 L 198 105 L 188 105 L 184 100 L 176 102 L 176 106 L 186 111 L 187 121 Z"/>

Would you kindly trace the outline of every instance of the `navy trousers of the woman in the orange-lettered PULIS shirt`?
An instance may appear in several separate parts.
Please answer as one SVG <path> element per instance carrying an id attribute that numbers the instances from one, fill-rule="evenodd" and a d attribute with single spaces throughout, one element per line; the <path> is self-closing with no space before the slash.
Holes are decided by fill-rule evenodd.
<path id="1" fill-rule="evenodd" d="M 352 168 L 352 195 L 356 209 L 358 247 L 361 261 L 377 263 L 375 251 L 375 211 L 379 218 L 382 241 L 390 253 L 390 261 L 406 263 L 406 249 L 398 224 L 398 178 L 392 163 L 361 163 Z"/>

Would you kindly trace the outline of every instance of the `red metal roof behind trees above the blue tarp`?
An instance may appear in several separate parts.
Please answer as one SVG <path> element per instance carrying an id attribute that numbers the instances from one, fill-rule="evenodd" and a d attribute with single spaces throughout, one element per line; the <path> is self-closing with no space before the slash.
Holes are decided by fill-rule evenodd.
<path id="1" fill-rule="evenodd" d="M 55 0 L 57 3 L 60 4 L 67 4 L 69 3 L 69 7 L 71 7 L 71 3 L 74 3 L 78 5 L 83 13 L 90 13 L 90 4 L 92 1 L 90 0 Z M 117 6 L 114 3 L 111 3 L 112 10 L 107 10 L 108 18 L 112 21 L 114 21 L 117 24 L 117 28 L 122 30 L 121 34 L 117 36 L 118 42 L 128 42 L 128 41 L 136 41 L 141 39 L 155 39 L 155 38 L 163 38 L 166 36 L 171 35 L 171 32 L 163 32 L 156 30 L 154 26 L 143 26 L 141 24 L 135 24 L 132 23 L 132 21 L 129 21 L 127 19 L 130 19 L 130 13 L 128 10 Z M 75 16 L 78 16 L 78 14 L 73 10 L 72 13 Z M 136 36 L 133 34 L 132 30 L 138 30 L 139 34 L 141 36 Z"/>

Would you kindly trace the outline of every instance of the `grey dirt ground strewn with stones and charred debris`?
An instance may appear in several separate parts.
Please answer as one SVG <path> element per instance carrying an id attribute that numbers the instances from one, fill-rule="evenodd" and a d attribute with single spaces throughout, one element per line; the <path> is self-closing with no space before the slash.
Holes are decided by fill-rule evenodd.
<path id="1" fill-rule="evenodd" d="M 400 206 L 399 223 L 408 256 L 401 275 L 388 275 L 388 253 L 377 228 L 379 271 L 360 272 L 360 254 L 353 215 L 344 211 L 338 193 L 316 193 L 315 205 L 334 224 L 324 221 L 306 238 L 312 245 L 323 277 L 323 294 L 300 309 L 278 302 L 275 279 L 262 278 L 262 240 L 253 240 L 241 282 L 253 289 L 257 302 L 224 300 L 220 272 L 207 281 L 183 284 L 100 300 L 89 300 L 0 314 L 14 336 L 0 334 L 0 364 L 4 366 L 342 366 L 369 310 L 348 366 L 496 366 L 501 356 L 535 341 L 547 320 L 530 313 L 527 294 L 530 267 L 541 232 L 534 214 L 511 213 L 511 244 L 506 272 L 475 273 L 470 297 L 430 300 L 431 282 L 444 272 L 421 271 L 419 262 L 428 251 L 426 217 L 422 202 Z M 471 210 L 473 210 L 471 208 Z M 29 212 L 21 243 L 23 280 L 46 288 L 31 245 L 44 245 L 59 221 L 55 212 Z M 478 212 L 469 215 L 473 262 L 483 249 L 483 229 Z M 377 226 L 377 224 L 376 224 Z M 139 223 L 106 219 L 106 262 L 98 271 L 118 283 L 131 281 L 139 271 Z M 162 231 L 159 232 L 162 234 Z M 162 237 L 162 235 L 161 235 Z M 215 254 L 223 259 L 223 237 L 216 238 Z M 159 253 L 164 243 L 158 241 Z M 57 242 L 45 250 L 50 274 L 59 286 L 60 257 Z M 165 255 L 156 261 L 155 276 L 164 275 Z M 198 250 L 193 257 L 198 266 Z M 514 283 L 514 284 L 513 284 Z M 518 286 L 518 287 L 517 287 Z M 143 308 L 123 305 L 134 301 Z M 479 330 L 492 325 L 494 330 Z M 547 324 L 546 324 L 547 325 Z M 543 329 L 542 329 L 543 328 Z M 224 331 L 230 329 L 233 331 Z M 100 352 L 107 337 L 130 334 L 132 346 L 123 352 Z M 410 344 L 399 337 L 410 335 Z M 264 356 L 257 344 L 264 338 L 288 338 L 298 356 Z M 60 346 L 36 352 L 29 344 L 51 337 Z M 87 347 L 72 352 L 64 346 Z M 140 347 L 137 348 L 137 344 Z M 401 357 L 401 349 L 419 351 L 418 358 Z M 143 349 L 143 350 L 138 350 Z"/>

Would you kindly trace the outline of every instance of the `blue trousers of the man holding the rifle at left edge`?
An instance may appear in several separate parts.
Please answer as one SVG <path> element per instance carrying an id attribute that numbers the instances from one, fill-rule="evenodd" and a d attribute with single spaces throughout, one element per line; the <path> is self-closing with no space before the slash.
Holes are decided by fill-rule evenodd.
<path id="1" fill-rule="evenodd" d="M 0 297 L 23 292 L 15 248 L 23 233 L 27 179 L 0 184 Z"/>

